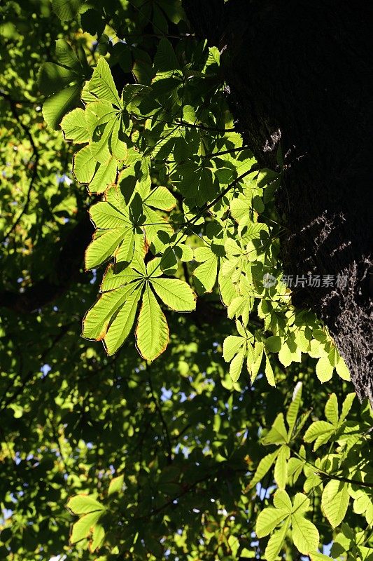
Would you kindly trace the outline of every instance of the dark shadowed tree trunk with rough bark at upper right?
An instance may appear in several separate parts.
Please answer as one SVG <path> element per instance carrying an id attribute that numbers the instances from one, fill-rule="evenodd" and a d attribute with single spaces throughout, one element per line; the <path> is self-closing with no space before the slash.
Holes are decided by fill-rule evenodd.
<path id="1" fill-rule="evenodd" d="M 260 163 L 274 168 L 279 141 L 286 154 L 277 201 L 286 273 L 346 277 L 297 288 L 293 302 L 323 319 L 359 398 L 373 403 L 372 4 L 184 4 L 195 32 L 224 52 L 228 102 Z"/>

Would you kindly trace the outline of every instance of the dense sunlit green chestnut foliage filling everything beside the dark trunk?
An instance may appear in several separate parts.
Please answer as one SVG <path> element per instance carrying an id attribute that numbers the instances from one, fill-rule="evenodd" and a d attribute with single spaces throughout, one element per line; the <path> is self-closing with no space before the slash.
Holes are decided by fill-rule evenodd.
<path id="1" fill-rule="evenodd" d="M 1 10 L 3 558 L 373 559 L 370 405 L 223 53 L 178 0 Z"/>

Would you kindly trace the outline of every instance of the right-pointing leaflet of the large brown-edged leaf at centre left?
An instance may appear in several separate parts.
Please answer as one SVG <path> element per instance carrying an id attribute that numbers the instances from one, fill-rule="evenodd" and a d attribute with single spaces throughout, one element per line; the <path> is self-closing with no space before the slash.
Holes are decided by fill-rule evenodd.
<path id="1" fill-rule="evenodd" d="M 160 299 L 174 311 L 195 310 L 195 293 L 183 280 L 177 278 L 150 278 Z"/>

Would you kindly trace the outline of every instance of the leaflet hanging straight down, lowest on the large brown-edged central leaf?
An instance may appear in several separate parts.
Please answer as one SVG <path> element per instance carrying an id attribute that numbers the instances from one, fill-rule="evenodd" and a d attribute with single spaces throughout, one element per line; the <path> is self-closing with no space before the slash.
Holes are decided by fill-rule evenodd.
<path id="1" fill-rule="evenodd" d="M 152 290 L 146 285 L 136 327 L 136 346 L 146 360 L 154 360 L 169 343 L 169 327 Z"/>

